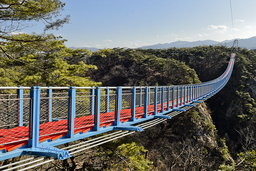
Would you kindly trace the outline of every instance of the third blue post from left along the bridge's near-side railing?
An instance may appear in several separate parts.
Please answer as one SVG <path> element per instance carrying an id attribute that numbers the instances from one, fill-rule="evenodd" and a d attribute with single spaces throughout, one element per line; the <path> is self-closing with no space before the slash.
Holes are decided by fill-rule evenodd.
<path id="1" fill-rule="evenodd" d="M 100 87 L 96 87 L 94 101 L 94 131 L 100 130 Z"/>

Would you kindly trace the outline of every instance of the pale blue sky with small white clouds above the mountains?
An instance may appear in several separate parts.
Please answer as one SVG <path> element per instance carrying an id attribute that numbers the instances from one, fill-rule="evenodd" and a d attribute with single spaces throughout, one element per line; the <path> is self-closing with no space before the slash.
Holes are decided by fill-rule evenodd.
<path id="1" fill-rule="evenodd" d="M 230 0 L 63 0 L 67 47 L 114 48 L 177 40 L 234 40 Z M 231 0 L 235 38 L 256 36 L 255 0 Z M 42 32 L 42 25 L 23 30 Z"/>

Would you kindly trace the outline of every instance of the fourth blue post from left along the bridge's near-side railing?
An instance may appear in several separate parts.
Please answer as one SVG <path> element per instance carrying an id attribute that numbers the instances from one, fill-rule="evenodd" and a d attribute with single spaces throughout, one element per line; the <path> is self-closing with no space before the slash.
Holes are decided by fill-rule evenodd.
<path id="1" fill-rule="evenodd" d="M 119 125 L 120 123 L 120 110 L 121 110 L 121 103 L 122 103 L 122 87 L 117 87 L 117 89 L 115 89 L 115 94 L 116 94 L 116 98 L 115 98 L 115 121 L 114 121 L 114 125 Z"/>

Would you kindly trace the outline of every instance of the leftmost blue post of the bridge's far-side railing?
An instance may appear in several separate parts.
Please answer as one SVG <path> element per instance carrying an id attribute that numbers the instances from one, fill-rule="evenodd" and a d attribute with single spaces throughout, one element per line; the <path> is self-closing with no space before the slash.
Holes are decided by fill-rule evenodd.
<path id="1" fill-rule="evenodd" d="M 18 86 L 23 87 L 23 86 Z M 16 123 L 17 126 L 23 126 L 23 89 L 17 89 L 17 118 Z"/>

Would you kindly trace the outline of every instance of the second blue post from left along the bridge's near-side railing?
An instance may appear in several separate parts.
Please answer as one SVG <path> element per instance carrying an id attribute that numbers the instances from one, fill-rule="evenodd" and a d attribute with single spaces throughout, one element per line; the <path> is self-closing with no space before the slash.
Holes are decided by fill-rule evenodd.
<path id="1" fill-rule="evenodd" d="M 68 117 L 67 117 L 67 138 L 74 137 L 75 116 L 76 116 L 76 89 L 69 87 L 68 90 Z"/>

